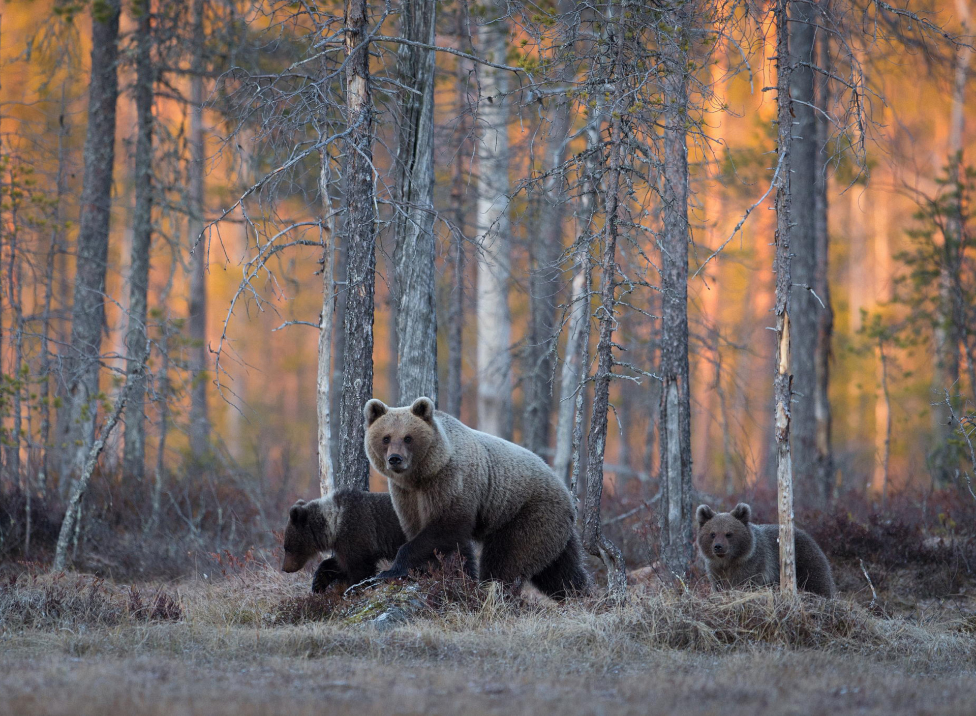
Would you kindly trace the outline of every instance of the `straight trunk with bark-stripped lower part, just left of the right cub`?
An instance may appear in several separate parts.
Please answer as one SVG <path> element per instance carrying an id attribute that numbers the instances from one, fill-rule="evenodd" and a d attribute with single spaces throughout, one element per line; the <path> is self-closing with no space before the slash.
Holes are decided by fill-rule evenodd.
<path id="1" fill-rule="evenodd" d="M 666 24 L 685 28 L 682 6 Z M 686 32 L 665 40 L 665 171 L 661 248 L 661 556 L 671 573 L 684 576 L 691 564 L 691 398 L 688 386 L 688 116 Z"/>

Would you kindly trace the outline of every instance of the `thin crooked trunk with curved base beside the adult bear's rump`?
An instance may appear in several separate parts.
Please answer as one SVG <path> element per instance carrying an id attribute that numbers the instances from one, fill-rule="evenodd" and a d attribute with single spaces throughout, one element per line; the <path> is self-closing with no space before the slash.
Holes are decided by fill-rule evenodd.
<path id="1" fill-rule="evenodd" d="M 596 344 L 596 375 L 593 380 L 593 406 L 587 454 L 587 500 L 583 517 L 583 545 L 599 557 L 607 570 L 611 599 L 627 599 L 627 569 L 620 549 L 606 535 L 600 520 L 603 496 L 603 458 L 606 448 L 607 414 L 610 409 L 610 380 L 613 377 L 613 332 L 616 318 L 617 222 L 619 212 L 621 153 L 625 150 L 620 119 L 611 122 L 610 166 L 606 187 L 606 225 L 603 230 L 603 255 L 600 257 L 599 341 Z"/>

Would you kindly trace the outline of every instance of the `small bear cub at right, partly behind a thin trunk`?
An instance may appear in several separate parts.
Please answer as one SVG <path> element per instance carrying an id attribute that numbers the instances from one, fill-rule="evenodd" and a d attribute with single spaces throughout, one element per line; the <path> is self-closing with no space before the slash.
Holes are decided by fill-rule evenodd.
<path id="1" fill-rule="evenodd" d="M 698 549 L 705 558 L 712 589 L 738 589 L 780 582 L 779 525 L 753 525 L 752 509 L 740 502 L 732 512 L 715 514 L 708 505 L 696 512 Z M 822 597 L 834 596 L 834 576 L 823 550 L 802 529 L 795 530 L 796 586 Z"/>

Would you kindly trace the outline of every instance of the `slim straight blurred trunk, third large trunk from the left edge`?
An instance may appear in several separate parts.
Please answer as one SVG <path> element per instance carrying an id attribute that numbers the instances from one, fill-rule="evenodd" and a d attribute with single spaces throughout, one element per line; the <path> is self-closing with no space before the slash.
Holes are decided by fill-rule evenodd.
<path id="1" fill-rule="evenodd" d="M 189 240 L 196 242 L 203 232 L 205 187 L 203 181 L 203 13 L 206 0 L 193 0 L 193 66 L 189 80 Z M 207 256 L 210 240 L 204 237 L 190 257 L 189 363 L 190 382 L 189 445 L 193 460 L 199 463 L 210 451 L 210 417 L 207 407 Z"/>

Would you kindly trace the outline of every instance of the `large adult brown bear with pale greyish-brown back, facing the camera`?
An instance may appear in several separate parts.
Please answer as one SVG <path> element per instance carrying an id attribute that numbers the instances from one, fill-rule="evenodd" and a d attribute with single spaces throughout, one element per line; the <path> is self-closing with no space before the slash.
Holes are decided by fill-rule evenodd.
<path id="1" fill-rule="evenodd" d="M 473 573 L 516 586 L 530 579 L 562 599 L 590 589 L 569 490 L 535 453 L 468 428 L 419 398 L 409 407 L 366 403 L 366 454 L 389 483 L 409 541 L 386 578 L 460 551 Z"/>

